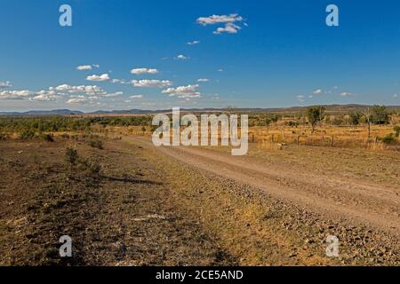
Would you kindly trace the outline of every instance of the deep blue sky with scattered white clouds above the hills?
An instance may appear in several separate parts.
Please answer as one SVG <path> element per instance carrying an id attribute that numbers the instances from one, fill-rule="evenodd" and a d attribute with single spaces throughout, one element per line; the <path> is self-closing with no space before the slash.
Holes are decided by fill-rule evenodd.
<path id="1" fill-rule="evenodd" d="M 400 105 L 399 12 L 395 0 L 2 0 L 0 111 Z"/>

